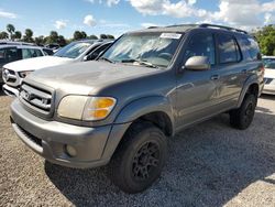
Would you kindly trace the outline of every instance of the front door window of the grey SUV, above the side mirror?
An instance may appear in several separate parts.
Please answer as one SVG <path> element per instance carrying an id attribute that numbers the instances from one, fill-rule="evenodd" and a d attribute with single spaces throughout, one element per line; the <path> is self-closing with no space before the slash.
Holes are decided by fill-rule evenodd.
<path id="1" fill-rule="evenodd" d="M 195 34 L 185 51 L 185 62 L 193 56 L 207 56 L 215 64 L 215 43 L 212 34 Z"/>

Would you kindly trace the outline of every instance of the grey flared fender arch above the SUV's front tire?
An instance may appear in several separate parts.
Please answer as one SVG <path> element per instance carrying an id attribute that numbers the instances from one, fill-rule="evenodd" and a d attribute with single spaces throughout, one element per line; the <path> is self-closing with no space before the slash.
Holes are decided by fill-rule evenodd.
<path id="1" fill-rule="evenodd" d="M 127 123 L 151 112 L 164 112 L 172 122 L 174 129 L 173 107 L 166 97 L 144 97 L 128 103 L 118 115 L 114 123 Z"/>

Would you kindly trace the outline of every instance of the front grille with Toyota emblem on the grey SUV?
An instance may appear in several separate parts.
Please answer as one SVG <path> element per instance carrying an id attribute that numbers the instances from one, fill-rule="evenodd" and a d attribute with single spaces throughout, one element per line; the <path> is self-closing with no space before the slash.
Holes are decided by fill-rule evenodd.
<path id="1" fill-rule="evenodd" d="M 52 107 L 52 94 L 37 87 L 23 84 L 20 90 L 20 98 L 29 107 L 50 113 Z"/>

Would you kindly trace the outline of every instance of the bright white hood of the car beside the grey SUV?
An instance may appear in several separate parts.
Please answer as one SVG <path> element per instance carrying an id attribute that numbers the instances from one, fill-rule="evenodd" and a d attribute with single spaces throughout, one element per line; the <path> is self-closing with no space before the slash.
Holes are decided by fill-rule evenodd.
<path id="1" fill-rule="evenodd" d="M 57 56 L 42 56 L 28 59 L 21 59 L 4 65 L 4 68 L 12 69 L 14 72 L 36 70 L 45 67 L 52 67 L 57 65 L 65 65 L 74 62 L 75 59 Z"/>

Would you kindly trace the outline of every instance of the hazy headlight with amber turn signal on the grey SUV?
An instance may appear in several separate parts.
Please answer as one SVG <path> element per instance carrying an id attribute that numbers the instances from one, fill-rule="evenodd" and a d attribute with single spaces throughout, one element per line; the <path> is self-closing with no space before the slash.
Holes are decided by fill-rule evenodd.
<path id="1" fill-rule="evenodd" d="M 111 97 L 66 96 L 62 99 L 57 113 L 69 119 L 102 120 L 110 115 L 116 102 Z"/>

